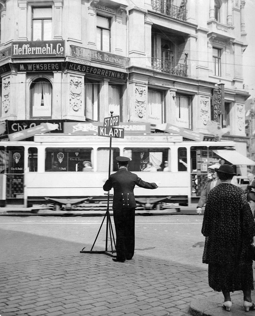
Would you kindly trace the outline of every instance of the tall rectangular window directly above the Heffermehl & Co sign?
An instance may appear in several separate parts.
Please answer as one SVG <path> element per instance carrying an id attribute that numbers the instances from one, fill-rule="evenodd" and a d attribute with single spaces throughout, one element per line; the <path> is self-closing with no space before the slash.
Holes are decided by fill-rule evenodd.
<path id="1" fill-rule="evenodd" d="M 32 40 L 52 40 L 52 9 L 32 8 Z"/>

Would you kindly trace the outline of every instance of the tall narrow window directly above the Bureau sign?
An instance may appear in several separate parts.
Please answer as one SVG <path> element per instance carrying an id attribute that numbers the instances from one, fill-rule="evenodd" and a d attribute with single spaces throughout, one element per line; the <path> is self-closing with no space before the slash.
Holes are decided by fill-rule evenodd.
<path id="1" fill-rule="evenodd" d="M 111 19 L 106 16 L 96 15 L 96 49 L 110 52 Z"/>

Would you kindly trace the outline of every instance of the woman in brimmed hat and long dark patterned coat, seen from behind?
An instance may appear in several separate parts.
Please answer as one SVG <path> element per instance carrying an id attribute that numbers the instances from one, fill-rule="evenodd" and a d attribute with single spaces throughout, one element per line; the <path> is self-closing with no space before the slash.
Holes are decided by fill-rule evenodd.
<path id="1" fill-rule="evenodd" d="M 208 264 L 209 286 L 224 295 L 222 307 L 230 311 L 230 292 L 243 291 L 245 311 L 254 309 L 250 247 L 255 223 L 244 191 L 231 184 L 234 168 L 216 169 L 220 184 L 207 198 L 202 234 L 206 236 L 203 263 Z"/>

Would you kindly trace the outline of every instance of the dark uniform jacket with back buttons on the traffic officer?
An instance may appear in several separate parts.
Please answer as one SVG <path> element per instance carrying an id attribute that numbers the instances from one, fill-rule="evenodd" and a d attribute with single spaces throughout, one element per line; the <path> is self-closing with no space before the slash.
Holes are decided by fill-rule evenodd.
<path id="1" fill-rule="evenodd" d="M 113 209 L 117 208 L 135 208 L 136 201 L 134 196 L 134 187 L 138 185 L 145 189 L 156 189 L 156 183 L 145 182 L 135 173 L 121 168 L 118 172 L 110 175 L 109 179 L 103 185 L 104 191 L 114 190 Z"/>

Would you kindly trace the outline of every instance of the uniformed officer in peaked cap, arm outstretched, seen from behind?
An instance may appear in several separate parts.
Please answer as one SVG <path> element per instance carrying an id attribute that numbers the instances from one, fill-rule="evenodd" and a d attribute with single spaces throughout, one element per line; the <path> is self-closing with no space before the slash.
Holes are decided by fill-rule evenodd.
<path id="1" fill-rule="evenodd" d="M 156 189 L 159 183 L 142 181 L 135 173 L 127 171 L 127 157 L 116 157 L 119 171 L 110 175 L 103 185 L 104 191 L 113 188 L 113 219 L 116 231 L 116 259 L 124 262 L 131 260 L 135 251 L 135 208 L 134 187 Z"/>

